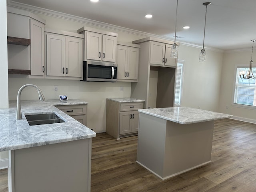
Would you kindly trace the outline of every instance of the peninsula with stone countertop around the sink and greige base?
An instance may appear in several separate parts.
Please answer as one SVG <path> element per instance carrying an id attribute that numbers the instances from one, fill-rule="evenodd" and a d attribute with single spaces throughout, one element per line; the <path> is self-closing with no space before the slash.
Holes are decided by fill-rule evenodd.
<path id="1" fill-rule="evenodd" d="M 87 104 L 81 100 L 16 101 L 0 109 L 0 151 L 9 152 L 9 192 L 90 192 L 92 137 L 96 133 L 57 105 Z M 64 122 L 30 126 L 25 115 L 54 113 Z"/>

